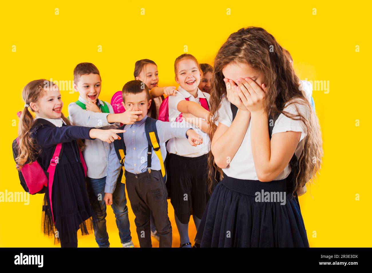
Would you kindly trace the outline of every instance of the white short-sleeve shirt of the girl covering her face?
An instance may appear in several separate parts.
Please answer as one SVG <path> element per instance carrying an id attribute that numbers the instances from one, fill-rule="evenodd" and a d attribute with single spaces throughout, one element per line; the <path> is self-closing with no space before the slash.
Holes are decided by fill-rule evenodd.
<path id="1" fill-rule="evenodd" d="M 309 111 L 305 105 L 295 104 L 298 107 L 298 112 L 304 115 L 305 118 L 309 118 Z M 297 110 L 294 104 L 288 105 L 284 108 L 285 111 L 297 114 Z M 239 110 L 238 110 L 239 111 Z M 230 102 L 227 100 L 226 96 L 221 100 L 221 107 L 218 110 L 219 113 L 219 122 L 230 127 L 232 123 L 232 111 L 230 107 Z M 269 124 L 267 123 L 267 126 Z M 273 127 L 272 134 L 286 132 L 286 131 L 295 131 L 301 132 L 301 137 L 299 143 L 296 147 L 295 154 L 297 158 L 302 153 L 304 149 L 304 138 L 306 136 L 306 127 L 302 121 L 292 120 L 280 114 L 278 119 L 275 122 Z M 249 121 L 247 131 L 244 135 L 243 142 L 241 143 L 238 151 L 235 156 L 232 158 L 230 164 L 222 169 L 227 176 L 238 178 L 238 179 L 248 179 L 248 180 L 258 180 L 256 169 L 254 167 L 253 154 L 251 148 L 251 122 Z M 291 167 L 286 166 L 286 168 L 274 179 L 280 180 L 286 178 L 291 172 Z"/>

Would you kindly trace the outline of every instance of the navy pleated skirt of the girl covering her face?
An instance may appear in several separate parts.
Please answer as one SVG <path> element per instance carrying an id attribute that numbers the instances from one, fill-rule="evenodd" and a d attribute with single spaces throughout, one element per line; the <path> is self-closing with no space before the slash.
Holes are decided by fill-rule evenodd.
<path id="1" fill-rule="evenodd" d="M 226 174 L 209 199 L 195 243 L 201 247 L 309 247 L 296 197 L 286 193 L 286 179 L 260 182 Z"/>

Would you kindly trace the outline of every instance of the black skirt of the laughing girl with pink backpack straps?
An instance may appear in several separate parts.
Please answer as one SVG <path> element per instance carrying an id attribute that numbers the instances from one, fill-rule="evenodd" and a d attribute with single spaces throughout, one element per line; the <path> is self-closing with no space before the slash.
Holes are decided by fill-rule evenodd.
<path id="1" fill-rule="evenodd" d="M 208 154 L 185 157 L 171 153 L 168 157 L 167 189 L 177 218 L 182 224 L 189 222 L 190 215 L 201 219 L 211 196 L 208 189 Z"/>

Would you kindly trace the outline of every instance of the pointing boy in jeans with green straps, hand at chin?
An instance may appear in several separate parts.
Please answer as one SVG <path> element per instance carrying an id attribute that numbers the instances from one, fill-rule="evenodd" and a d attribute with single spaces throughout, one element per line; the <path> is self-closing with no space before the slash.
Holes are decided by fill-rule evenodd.
<path id="1" fill-rule="evenodd" d="M 77 126 L 96 127 L 99 129 L 116 129 L 119 122 L 132 124 L 141 111 L 125 111 L 114 114 L 112 106 L 99 100 L 101 77 L 97 67 L 91 63 L 80 63 L 74 69 L 74 89 L 79 92 L 78 101 L 68 105 L 71 123 Z M 112 140 L 113 141 L 113 140 Z M 103 200 L 107 176 L 108 156 L 112 143 L 101 140 L 85 140 L 83 150 L 87 165 L 87 185 L 92 209 L 97 214 L 94 222 L 94 236 L 99 247 L 109 247 L 106 230 L 106 204 Z M 121 181 L 121 177 L 119 177 Z M 98 202 L 97 202 L 98 200 Z M 129 230 L 128 208 L 126 206 L 125 184 L 117 183 L 113 192 L 112 209 L 115 214 L 119 237 L 123 247 L 134 247 Z"/>

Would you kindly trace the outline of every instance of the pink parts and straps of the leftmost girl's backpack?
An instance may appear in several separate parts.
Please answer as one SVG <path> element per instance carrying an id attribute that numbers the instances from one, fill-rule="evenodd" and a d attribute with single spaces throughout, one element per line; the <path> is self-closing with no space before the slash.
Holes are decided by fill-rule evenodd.
<path id="1" fill-rule="evenodd" d="M 19 139 L 18 137 L 13 141 L 13 157 L 16 159 L 18 154 Z M 46 187 L 49 183 L 49 201 L 50 209 L 53 217 L 52 210 L 52 185 L 54 180 L 55 167 L 58 164 L 58 159 L 61 156 L 62 143 L 58 143 L 55 147 L 52 159 L 50 160 L 49 167 L 47 169 L 48 177 L 44 170 L 41 168 L 37 161 L 31 162 L 30 164 L 25 164 L 19 171 L 19 180 L 23 189 L 30 194 L 45 193 Z M 85 164 L 83 154 L 79 149 L 81 165 L 84 169 L 84 175 L 87 176 L 87 165 Z"/>

